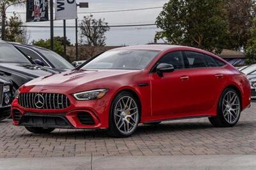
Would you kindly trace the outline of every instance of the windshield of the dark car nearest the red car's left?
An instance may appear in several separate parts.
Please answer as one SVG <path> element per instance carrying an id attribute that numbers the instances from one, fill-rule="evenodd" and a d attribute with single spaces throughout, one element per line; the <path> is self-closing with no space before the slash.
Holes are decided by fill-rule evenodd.
<path id="1" fill-rule="evenodd" d="M 45 49 L 37 49 L 40 53 L 42 53 L 45 58 L 47 58 L 52 65 L 54 65 L 56 68 L 68 68 L 68 69 L 74 69 L 74 66 L 72 66 L 66 59 L 61 57 L 56 52 L 53 52 L 52 50 L 45 50 Z"/>

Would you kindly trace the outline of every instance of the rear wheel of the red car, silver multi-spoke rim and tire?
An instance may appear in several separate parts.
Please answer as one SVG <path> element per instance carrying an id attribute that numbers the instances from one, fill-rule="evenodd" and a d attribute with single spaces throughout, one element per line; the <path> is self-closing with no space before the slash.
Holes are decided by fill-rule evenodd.
<path id="1" fill-rule="evenodd" d="M 241 101 L 238 93 L 227 88 L 223 91 L 218 103 L 217 116 L 209 118 L 214 127 L 233 127 L 240 118 Z"/>

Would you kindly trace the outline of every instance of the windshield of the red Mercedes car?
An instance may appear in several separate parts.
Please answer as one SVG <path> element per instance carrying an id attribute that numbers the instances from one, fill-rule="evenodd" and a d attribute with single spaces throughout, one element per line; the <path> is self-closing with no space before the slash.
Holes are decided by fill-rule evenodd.
<path id="1" fill-rule="evenodd" d="M 86 63 L 81 69 L 141 70 L 158 53 L 156 50 L 109 50 Z"/>

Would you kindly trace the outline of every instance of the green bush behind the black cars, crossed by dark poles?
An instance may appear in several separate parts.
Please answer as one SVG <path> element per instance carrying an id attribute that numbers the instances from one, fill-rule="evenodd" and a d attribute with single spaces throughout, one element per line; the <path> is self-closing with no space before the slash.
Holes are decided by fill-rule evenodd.
<path id="1" fill-rule="evenodd" d="M 54 52 L 60 54 L 61 56 L 64 56 L 64 47 L 63 47 L 63 41 L 62 41 L 63 39 L 64 38 L 60 36 L 54 37 Z M 51 49 L 51 39 L 46 39 L 46 40 L 40 39 L 38 41 L 33 40 L 32 44 L 38 47 L 44 47 L 45 49 Z M 67 56 L 66 59 L 70 61 L 70 56 Z"/>

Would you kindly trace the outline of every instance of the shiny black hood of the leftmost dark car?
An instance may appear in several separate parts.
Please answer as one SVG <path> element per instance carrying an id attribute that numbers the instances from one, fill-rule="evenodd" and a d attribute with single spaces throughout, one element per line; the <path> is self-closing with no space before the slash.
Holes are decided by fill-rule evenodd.
<path id="1" fill-rule="evenodd" d="M 50 68 L 24 63 L 0 63 L 0 70 L 10 70 L 10 72 L 21 73 L 34 78 L 59 73 Z"/>

